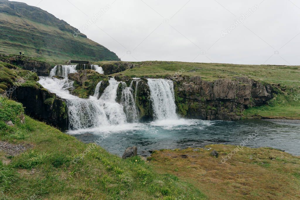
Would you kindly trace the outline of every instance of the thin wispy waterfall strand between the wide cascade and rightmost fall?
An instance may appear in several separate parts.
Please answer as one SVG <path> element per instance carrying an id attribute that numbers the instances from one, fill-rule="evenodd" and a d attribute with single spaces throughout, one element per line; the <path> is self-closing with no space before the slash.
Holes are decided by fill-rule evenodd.
<path id="1" fill-rule="evenodd" d="M 128 122 L 136 122 L 138 120 L 138 116 L 137 116 L 137 106 L 135 104 L 135 100 L 132 94 L 133 81 L 131 81 L 129 87 L 127 87 L 125 82 L 122 82 L 121 84 L 122 84 L 121 103 L 123 105 L 124 112 L 126 114 L 126 119 Z"/>

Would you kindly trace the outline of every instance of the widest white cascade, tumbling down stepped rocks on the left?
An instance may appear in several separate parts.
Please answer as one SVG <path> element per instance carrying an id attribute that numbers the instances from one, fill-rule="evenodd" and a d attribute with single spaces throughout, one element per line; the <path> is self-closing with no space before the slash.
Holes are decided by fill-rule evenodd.
<path id="1" fill-rule="evenodd" d="M 67 78 L 40 77 L 38 82 L 50 92 L 66 100 L 71 130 L 118 125 L 127 122 L 123 106 L 116 102 L 120 82 L 113 78 L 109 80 L 110 85 L 104 90 L 99 100 L 95 97 L 81 99 L 70 94 L 68 88 L 72 87 L 73 81 Z M 101 83 L 99 82 L 97 86 L 100 88 Z"/>

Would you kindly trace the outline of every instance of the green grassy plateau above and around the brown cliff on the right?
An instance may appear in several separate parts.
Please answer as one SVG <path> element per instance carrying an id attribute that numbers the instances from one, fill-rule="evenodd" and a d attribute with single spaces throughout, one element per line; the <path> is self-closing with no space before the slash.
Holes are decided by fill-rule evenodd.
<path id="1" fill-rule="evenodd" d="M 100 62 L 102 63 L 102 62 Z M 104 61 L 103 63 L 112 63 Z M 245 76 L 281 88 L 267 106 L 247 109 L 245 117 L 300 119 L 300 66 L 241 65 L 168 61 L 133 62 L 140 67 L 118 73 L 130 77 L 200 76 L 203 80 Z"/>

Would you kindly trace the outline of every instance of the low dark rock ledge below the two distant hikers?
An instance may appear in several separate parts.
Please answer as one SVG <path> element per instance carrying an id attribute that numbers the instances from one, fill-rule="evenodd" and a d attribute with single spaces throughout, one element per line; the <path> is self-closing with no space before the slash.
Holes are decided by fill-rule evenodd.
<path id="1" fill-rule="evenodd" d="M 0 54 L 0 61 L 17 65 L 25 70 L 34 71 L 38 76 L 48 76 L 51 71 L 50 64 L 35 60 L 32 57 Z"/>

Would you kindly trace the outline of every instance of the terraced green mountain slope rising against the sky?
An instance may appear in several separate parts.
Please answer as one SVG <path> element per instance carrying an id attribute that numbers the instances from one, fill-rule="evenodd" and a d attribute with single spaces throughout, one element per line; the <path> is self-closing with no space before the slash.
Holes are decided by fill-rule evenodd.
<path id="1" fill-rule="evenodd" d="M 57 61 L 84 59 L 119 60 L 104 46 L 78 29 L 38 7 L 16 1 L 0 0 L 0 52 L 41 56 Z"/>

